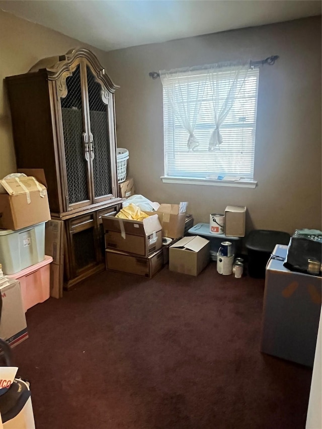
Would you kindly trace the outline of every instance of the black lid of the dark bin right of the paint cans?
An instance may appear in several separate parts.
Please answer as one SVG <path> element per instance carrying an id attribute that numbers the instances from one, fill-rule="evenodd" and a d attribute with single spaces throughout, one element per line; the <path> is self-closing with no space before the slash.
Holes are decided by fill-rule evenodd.
<path id="1" fill-rule="evenodd" d="M 253 229 L 248 234 L 245 245 L 250 250 L 272 252 L 276 244 L 288 244 L 290 238 L 290 234 L 283 231 Z"/>

